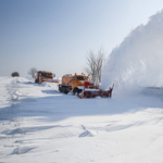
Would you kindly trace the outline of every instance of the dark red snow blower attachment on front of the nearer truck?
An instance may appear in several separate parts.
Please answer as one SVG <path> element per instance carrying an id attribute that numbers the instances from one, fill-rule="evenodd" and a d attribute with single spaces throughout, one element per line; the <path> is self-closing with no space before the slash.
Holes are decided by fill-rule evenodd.
<path id="1" fill-rule="evenodd" d="M 112 97 L 112 91 L 113 91 L 114 84 L 112 88 L 109 90 L 102 90 L 102 89 L 97 89 L 97 90 L 91 90 L 91 89 L 84 89 L 78 97 L 80 99 L 83 98 L 96 98 L 96 97 L 101 97 L 101 98 L 111 98 Z"/>

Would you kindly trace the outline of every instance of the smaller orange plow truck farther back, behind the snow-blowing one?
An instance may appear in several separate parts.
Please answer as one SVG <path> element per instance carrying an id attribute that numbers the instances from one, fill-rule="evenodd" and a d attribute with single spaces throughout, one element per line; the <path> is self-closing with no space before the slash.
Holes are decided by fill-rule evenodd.
<path id="1" fill-rule="evenodd" d="M 39 71 L 35 73 L 35 83 L 36 84 L 41 84 L 43 82 L 47 83 L 59 83 L 59 79 L 53 79 L 55 77 L 55 74 L 51 72 L 45 72 L 45 71 Z"/>

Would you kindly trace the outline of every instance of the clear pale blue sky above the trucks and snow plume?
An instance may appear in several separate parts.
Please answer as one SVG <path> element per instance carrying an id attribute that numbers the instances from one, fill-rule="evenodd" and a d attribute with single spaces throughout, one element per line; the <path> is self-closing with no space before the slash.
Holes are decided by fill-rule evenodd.
<path id="1" fill-rule="evenodd" d="M 109 55 L 162 8 L 163 0 L 0 0 L 0 75 L 82 73 L 89 50 Z"/>

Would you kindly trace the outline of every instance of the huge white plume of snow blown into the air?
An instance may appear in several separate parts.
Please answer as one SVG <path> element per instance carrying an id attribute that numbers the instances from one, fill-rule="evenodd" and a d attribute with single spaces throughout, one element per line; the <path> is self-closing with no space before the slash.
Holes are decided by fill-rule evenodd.
<path id="1" fill-rule="evenodd" d="M 137 86 L 163 86 L 163 10 L 135 28 L 115 48 L 102 72 L 102 87 L 115 82 L 127 90 Z"/>

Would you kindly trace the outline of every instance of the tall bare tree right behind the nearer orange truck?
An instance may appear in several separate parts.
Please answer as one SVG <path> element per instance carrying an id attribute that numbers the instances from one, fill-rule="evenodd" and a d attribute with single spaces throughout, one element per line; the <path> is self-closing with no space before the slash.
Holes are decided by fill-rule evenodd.
<path id="1" fill-rule="evenodd" d="M 105 61 L 105 54 L 102 49 L 95 54 L 91 50 L 87 59 L 87 65 L 84 67 L 84 71 L 90 75 L 93 82 L 101 83 L 101 72 Z"/>

